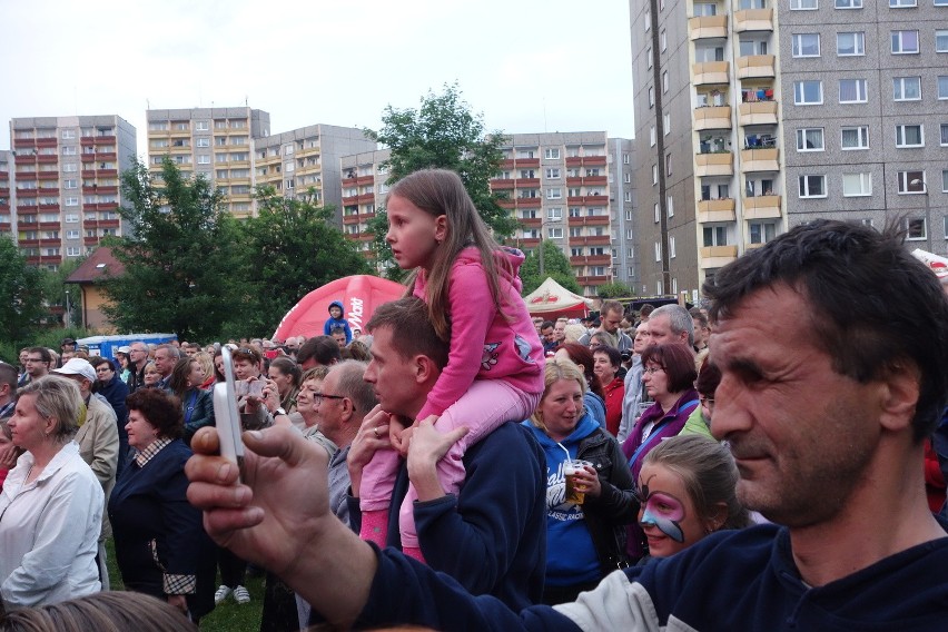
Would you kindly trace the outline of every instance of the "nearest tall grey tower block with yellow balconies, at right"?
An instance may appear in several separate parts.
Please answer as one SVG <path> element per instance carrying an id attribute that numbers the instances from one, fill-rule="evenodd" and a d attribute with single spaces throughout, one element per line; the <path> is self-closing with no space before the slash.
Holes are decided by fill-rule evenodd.
<path id="1" fill-rule="evenodd" d="M 643 287 L 697 299 L 721 266 L 820 217 L 907 215 L 910 240 L 945 251 L 948 0 L 630 13 Z"/>

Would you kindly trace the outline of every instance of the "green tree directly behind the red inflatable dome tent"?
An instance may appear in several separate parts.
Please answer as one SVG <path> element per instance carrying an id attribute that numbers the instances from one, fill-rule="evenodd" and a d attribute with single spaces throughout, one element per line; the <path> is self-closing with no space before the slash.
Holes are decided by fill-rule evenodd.
<path id="1" fill-rule="evenodd" d="M 289 199 L 258 187 L 259 216 L 241 227 L 244 276 L 249 310 L 244 332 L 269 335 L 280 318 L 313 289 L 337 278 L 369 274 L 365 257 L 328 223 L 332 207 L 316 206 L 315 194 Z"/>

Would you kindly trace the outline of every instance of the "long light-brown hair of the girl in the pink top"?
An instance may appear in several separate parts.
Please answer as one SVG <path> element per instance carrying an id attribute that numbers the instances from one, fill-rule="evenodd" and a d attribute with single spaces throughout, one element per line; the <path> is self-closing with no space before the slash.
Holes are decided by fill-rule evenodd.
<path id="1" fill-rule="evenodd" d="M 405 198 L 422 210 L 434 217 L 444 215 L 447 219 L 445 240 L 435 248 L 425 288 L 425 303 L 428 306 L 428 318 L 434 325 L 435 332 L 443 340 L 451 339 L 451 324 L 448 323 L 447 282 L 451 276 L 451 267 L 468 246 L 477 248 L 481 254 L 481 265 L 487 275 L 487 285 L 494 299 L 497 312 L 503 313 L 505 298 L 501 296 L 500 280 L 497 278 L 497 266 L 505 269 L 511 276 L 513 270 L 510 263 L 503 257 L 496 257 L 501 246 L 494 240 L 487 225 L 481 219 L 477 208 L 461 177 L 447 169 L 423 169 L 415 171 L 398 180 L 388 191 L 387 200 L 393 196 Z M 407 279 L 411 295 L 415 278 L 421 274 L 415 269 Z"/>

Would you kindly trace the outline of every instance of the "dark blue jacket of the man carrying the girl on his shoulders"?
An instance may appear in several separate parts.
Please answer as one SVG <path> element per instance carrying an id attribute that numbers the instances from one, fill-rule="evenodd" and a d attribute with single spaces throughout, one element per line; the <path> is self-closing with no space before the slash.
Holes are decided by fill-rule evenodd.
<path id="1" fill-rule="evenodd" d="M 530 431 L 501 425 L 464 455 L 467 476 L 457 496 L 415 503 L 425 561 L 474 594 L 494 595 L 520 610 L 543 595 L 546 571 L 546 468 Z M 388 513 L 388 545 L 401 550 L 398 506 L 408 490 L 404 461 Z M 358 500 L 349 497 L 358 533 Z"/>

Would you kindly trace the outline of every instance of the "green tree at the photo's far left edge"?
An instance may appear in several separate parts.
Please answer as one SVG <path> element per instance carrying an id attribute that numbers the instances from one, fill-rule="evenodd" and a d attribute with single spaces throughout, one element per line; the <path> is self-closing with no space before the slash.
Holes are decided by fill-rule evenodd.
<path id="1" fill-rule="evenodd" d="M 42 274 L 27 264 L 10 237 L 0 236 L 0 339 L 26 343 L 46 316 Z"/>

